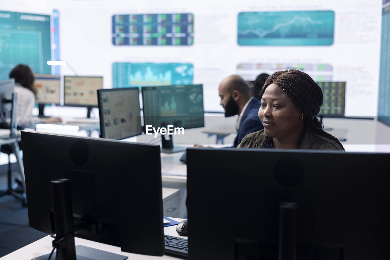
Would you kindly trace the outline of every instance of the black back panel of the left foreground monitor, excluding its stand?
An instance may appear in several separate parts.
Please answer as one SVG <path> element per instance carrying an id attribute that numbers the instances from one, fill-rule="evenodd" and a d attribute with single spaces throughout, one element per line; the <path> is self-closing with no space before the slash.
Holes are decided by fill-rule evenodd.
<path id="1" fill-rule="evenodd" d="M 32 228 L 55 233 L 50 182 L 66 178 L 77 234 L 125 252 L 163 255 L 159 146 L 28 131 L 21 139 Z"/>

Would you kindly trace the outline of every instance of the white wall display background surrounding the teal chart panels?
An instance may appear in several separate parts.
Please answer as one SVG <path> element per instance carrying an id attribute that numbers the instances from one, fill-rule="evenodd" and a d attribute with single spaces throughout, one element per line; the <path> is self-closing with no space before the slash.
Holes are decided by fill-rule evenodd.
<path id="1" fill-rule="evenodd" d="M 381 1 L 288 0 L 123 1 L 53 0 L 60 12 L 60 55 L 80 75 L 103 75 L 112 87 L 113 62 L 190 62 L 194 83 L 204 84 L 205 109 L 219 110 L 217 87 L 241 62 L 309 62 L 333 66 L 333 80 L 347 81 L 346 114 L 377 111 Z M 237 16 L 243 11 L 335 12 L 331 46 L 239 46 Z M 192 46 L 114 46 L 113 14 L 192 13 Z M 64 74 L 72 71 L 64 68 Z M 248 79 L 250 80 L 250 79 Z M 252 79 L 254 80 L 254 78 Z M 364 105 L 363 105 L 364 104 Z"/>

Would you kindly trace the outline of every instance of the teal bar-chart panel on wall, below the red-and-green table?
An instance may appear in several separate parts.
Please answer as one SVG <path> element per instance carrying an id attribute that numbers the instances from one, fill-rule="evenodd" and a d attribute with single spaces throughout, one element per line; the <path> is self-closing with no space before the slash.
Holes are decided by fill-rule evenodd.
<path id="1" fill-rule="evenodd" d="M 189 85 L 193 82 L 191 63 L 112 64 L 112 87 Z"/>

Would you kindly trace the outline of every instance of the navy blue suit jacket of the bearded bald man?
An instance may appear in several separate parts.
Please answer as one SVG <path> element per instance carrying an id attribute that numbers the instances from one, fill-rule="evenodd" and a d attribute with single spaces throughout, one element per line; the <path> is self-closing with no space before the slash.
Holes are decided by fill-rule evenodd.
<path id="1" fill-rule="evenodd" d="M 260 100 L 253 98 L 248 106 L 246 106 L 237 131 L 236 139 L 234 139 L 234 147 L 237 147 L 247 134 L 260 131 L 264 128 L 259 118 L 260 104 Z"/>

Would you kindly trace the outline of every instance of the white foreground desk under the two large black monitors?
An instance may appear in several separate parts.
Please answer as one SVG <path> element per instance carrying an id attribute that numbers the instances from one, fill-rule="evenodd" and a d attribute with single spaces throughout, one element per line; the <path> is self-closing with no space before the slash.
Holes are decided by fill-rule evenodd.
<path id="1" fill-rule="evenodd" d="M 179 222 L 183 220 L 183 219 L 176 219 L 176 218 L 172 218 L 172 219 Z M 164 234 L 172 235 L 175 237 L 182 237 L 177 234 L 176 226 L 168 226 L 164 228 Z M 182 238 L 187 239 L 188 237 L 182 237 Z M 3 256 L 0 259 L 1 260 L 32 259 L 37 256 L 46 255 L 50 253 L 51 250 L 53 249 L 51 247 L 51 241 L 53 241 L 53 238 L 51 238 L 50 236 L 46 236 L 6 256 Z M 166 255 L 161 257 L 161 256 L 146 256 L 146 255 L 126 253 L 126 252 L 122 252 L 121 248 L 116 246 L 110 246 L 110 245 L 101 244 L 90 240 L 79 239 L 79 238 L 75 238 L 74 242 L 76 246 L 83 245 L 83 246 L 88 246 L 90 248 L 97 248 L 111 253 L 116 253 L 119 255 L 125 255 L 129 257 L 128 258 L 129 260 L 177 259 L 176 257 L 166 256 Z"/>

